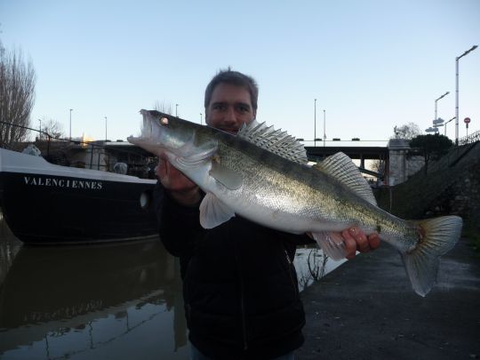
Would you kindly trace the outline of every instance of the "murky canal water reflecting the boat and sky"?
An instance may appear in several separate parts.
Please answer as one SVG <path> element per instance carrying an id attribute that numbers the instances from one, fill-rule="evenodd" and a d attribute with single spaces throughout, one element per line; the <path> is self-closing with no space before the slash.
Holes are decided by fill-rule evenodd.
<path id="1" fill-rule="evenodd" d="M 299 249 L 295 265 L 303 288 L 339 263 Z M 159 241 L 23 246 L 0 212 L 0 359 L 188 356 L 180 265 Z"/>

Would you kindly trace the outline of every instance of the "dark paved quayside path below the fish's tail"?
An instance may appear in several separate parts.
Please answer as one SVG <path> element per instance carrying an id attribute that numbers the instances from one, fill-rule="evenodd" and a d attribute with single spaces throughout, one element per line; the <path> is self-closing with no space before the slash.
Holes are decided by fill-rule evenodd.
<path id="1" fill-rule="evenodd" d="M 388 244 L 308 287 L 306 341 L 297 358 L 480 358 L 480 258 L 467 243 L 461 239 L 442 257 L 425 298 L 412 291 Z"/>

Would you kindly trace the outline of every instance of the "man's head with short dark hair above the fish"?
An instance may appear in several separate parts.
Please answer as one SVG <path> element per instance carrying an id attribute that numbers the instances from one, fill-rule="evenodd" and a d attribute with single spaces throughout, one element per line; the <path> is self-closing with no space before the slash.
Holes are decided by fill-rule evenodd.
<path id="1" fill-rule="evenodd" d="M 259 88 L 251 76 L 230 68 L 221 70 L 205 90 L 205 122 L 226 132 L 236 133 L 242 124 L 257 115 Z"/>

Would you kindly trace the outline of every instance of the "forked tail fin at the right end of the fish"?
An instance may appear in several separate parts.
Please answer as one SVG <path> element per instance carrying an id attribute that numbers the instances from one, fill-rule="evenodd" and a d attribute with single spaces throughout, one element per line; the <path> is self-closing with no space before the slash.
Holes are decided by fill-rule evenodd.
<path id="1" fill-rule="evenodd" d="M 442 216 L 415 224 L 420 241 L 414 249 L 402 253 L 402 259 L 414 292 L 425 296 L 436 282 L 439 257 L 460 238 L 462 220 L 459 216 Z"/>

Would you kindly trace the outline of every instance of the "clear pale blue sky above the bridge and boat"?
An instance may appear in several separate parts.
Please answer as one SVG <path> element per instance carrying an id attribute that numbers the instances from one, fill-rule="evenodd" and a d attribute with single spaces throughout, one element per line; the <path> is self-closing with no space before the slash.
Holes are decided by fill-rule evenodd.
<path id="1" fill-rule="evenodd" d="M 293 136 L 388 140 L 455 115 L 455 58 L 480 45 L 478 0 L 0 0 L 0 39 L 36 69 L 31 116 L 68 136 L 126 139 L 156 101 L 200 122 L 231 66 L 260 85 L 258 120 Z M 460 59 L 460 137 L 480 130 L 480 48 Z M 441 133 L 444 129 L 441 128 Z M 454 138 L 454 121 L 447 135 Z"/>

